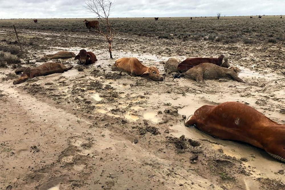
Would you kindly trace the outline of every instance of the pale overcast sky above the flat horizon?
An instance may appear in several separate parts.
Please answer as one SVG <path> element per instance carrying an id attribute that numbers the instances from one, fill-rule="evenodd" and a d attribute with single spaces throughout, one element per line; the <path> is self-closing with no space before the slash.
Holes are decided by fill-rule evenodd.
<path id="1" fill-rule="evenodd" d="M 0 18 L 89 18 L 86 0 L 0 0 Z M 112 1 L 112 0 L 111 0 Z M 110 17 L 284 15 L 285 0 L 115 0 Z"/>

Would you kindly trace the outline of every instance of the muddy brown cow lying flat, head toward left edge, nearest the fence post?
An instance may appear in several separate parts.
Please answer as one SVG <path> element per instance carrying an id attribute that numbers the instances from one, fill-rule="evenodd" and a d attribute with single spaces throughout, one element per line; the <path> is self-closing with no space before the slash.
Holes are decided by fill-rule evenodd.
<path id="1" fill-rule="evenodd" d="M 46 75 L 54 74 L 54 73 L 63 73 L 67 70 L 70 70 L 71 68 L 72 66 L 67 68 L 62 63 L 54 63 L 54 62 L 44 63 L 35 68 L 28 67 L 23 70 L 23 73 L 20 76 L 20 78 L 18 78 L 17 80 L 14 80 L 13 84 L 20 84 L 36 76 L 46 76 Z"/>

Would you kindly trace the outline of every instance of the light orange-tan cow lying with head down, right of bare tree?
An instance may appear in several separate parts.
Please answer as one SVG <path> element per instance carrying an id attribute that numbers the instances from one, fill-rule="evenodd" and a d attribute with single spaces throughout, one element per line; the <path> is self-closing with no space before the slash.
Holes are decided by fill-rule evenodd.
<path id="1" fill-rule="evenodd" d="M 146 76 L 152 80 L 163 80 L 163 76 L 159 74 L 158 69 L 155 66 L 144 66 L 137 58 L 120 58 L 115 61 L 112 66 L 112 70 L 117 68 L 130 72 L 135 76 Z"/>

